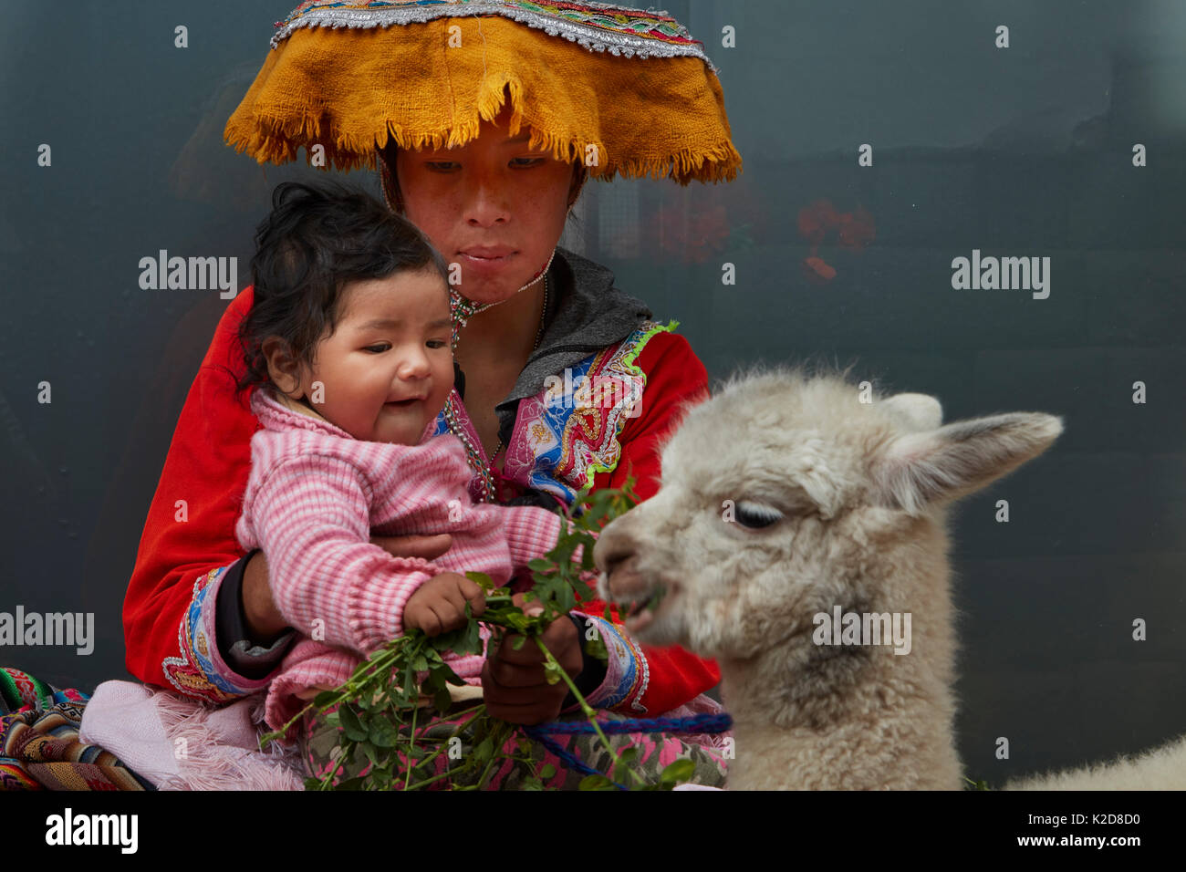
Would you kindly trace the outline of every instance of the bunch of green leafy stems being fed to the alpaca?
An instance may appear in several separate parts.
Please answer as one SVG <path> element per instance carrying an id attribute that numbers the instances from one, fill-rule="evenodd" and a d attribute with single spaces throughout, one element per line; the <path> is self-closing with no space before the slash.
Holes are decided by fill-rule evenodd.
<path id="1" fill-rule="evenodd" d="M 597 533 L 605 523 L 629 511 L 638 503 L 629 479 L 621 489 L 604 489 L 595 494 L 581 491 L 573 507 L 584 505 L 584 511 L 565 514 L 567 523 L 561 526 L 555 548 L 544 558 L 533 560 L 528 568 L 534 579 L 533 588 L 525 594 L 528 603 L 537 603 L 542 611 L 527 615 L 511 599 L 506 587 L 497 587 L 490 577 L 467 572 L 485 591 L 486 610 L 474 618 L 466 609 L 468 622 L 451 632 L 428 637 L 420 630 L 391 639 L 374 651 L 358 666 L 353 675 L 339 687 L 319 693 L 280 730 L 261 738 L 261 745 L 282 738 L 293 724 L 315 709 L 325 714 L 325 721 L 339 727 L 338 745 L 333 755 L 336 764 L 321 778 L 306 779 L 306 788 L 314 790 L 415 790 L 431 785 L 455 790 L 480 789 L 491 774 L 506 759 L 517 759 L 533 768 L 534 776 L 523 782 L 523 789 L 542 790 L 543 782 L 556 772 L 551 765 L 534 770 L 529 737 L 515 724 L 492 718 L 484 705 L 477 705 L 442 719 L 453 705 L 448 686 L 465 682 L 445 662 L 444 655 L 480 654 L 479 624 L 519 636 L 514 643 L 521 647 L 530 639 L 544 656 L 544 676 L 548 683 L 563 681 L 580 705 L 585 717 L 601 744 L 610 753 L 613 765 L 610 775 L 616 778 L 629 776 L 636 790 L 670 790 L 677 783 L 691 777 L 691 760 L 681 759 L 663 770 L 659 782 L 648 783 L 631 768 L 637 760 L 637 749 L 630 747 L 618 753 L 602 732 L 597 712 L 576 689 L 568 673 L 560 666 L 540 635 L 553 620 L 563 618 L 579 602 L 593 598 L 584 575 L 594 569 L 593 546 Z M 578 559 L 578 550 L 580 555 Z M 605 617 L 610 618 L 606 607 Z M 585 650 L 607 657 L 600 637 L 586 639 Z M 449 728 L 449 726 L 452 728 Z M 435 728 L 429 728 L 435 727 Z M 444 727 L 444 728 L 442 728 Z M 449 753 L 467 734 L 471 751 L 460 759 Z M 514 744 L 511 740 L 515 739 Z M 514 750 L 505 750 L 510 746 Z M 438 774 L 439 757 L 446 755 L 448 768 Z M 369 760 L 365 776 L 355 776 L 336 783 L 338 770 L 349 762 Z M 592 775 L 580 783 L 581 790 L 617 789 L 610 777 Z"/>

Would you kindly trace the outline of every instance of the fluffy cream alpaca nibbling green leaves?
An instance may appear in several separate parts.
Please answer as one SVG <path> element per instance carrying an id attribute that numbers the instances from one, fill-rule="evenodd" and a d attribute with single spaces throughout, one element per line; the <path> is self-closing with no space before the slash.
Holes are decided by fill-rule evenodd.
<path id="1" fill-rule="evenodd" d="M 599 594 L 646 604 L 627 629 L 718 660 L 731 789 L 963 787 L 946 509 L 1063 424 L 942 418 L 843 375 L 735 376 L 662 446 L 659 491 L 601 532 Z"/>

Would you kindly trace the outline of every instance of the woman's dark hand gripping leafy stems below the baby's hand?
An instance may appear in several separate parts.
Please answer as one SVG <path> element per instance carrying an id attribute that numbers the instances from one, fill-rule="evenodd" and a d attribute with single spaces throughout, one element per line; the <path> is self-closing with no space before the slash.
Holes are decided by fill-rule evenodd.
<path id="1" fill-rule="evenodd" d="M 528 615 L 542 611 L 538 604 L 524 606 L 521 593 L 515 594 L 514 602 Z M 519 636 L 508 634 L 490 639 L 486 662 L 482 667 L 482 695 L 486 711 L 511 724 L 530 726 L 555 720 L 568 694 L 568 685 L 563 681 L 549 685 L 543 671 L 543 651 L 530 638 L 516 651 L 514 642 L 517 638 Z M 561 668 L 575 680 L 581 674 L 584 657 L 580 634 L 573 622 L 568 618 L 551 622 L 541 634 L 541 639 Z"/>

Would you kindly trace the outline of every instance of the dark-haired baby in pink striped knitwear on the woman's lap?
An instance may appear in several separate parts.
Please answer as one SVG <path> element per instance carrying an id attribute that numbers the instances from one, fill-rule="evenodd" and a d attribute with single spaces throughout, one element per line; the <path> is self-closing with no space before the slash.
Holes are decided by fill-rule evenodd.
<path id="1" fill-rule="evenodd" d="M 406 630 L 453 630 L 467 604 L 482 615 L 463 573 L 506 585 L 555 547 L 562 520 L 474 504 L 461 441 L 429 438 L 453 388 L 453 325 L 445 262 L 413 224 L 361 192 L 286 183 L 251 273 L 238 389 L 263 428 L 235 534 L 267 555 L 276 606 L 304 636 L 268 688 L 276 730 Z M 434 562 L 395 558 L 372 530 L 453 546 Z M 483 656 L 446 660 L 478 683 Z"/>

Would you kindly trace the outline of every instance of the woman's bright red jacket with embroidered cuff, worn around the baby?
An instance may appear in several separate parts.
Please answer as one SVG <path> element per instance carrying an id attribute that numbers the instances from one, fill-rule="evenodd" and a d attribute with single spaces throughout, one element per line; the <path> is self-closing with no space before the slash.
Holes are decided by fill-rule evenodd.
<path id="1" fill-rule="evenodd" d="M 234 393 L 234 377 L 243 369 L 234 333 L 251 299 L 248 287 L 227 307 L 186 396 L 123 603 L 128 670 L 149 685 L 172 686 L 212 702 L 262 690 L 279 671 L 278 663 L 262 679 L 236 673 L 219 655 L 213 620 L 224 569 L 243 556 L 235 522 L 250 472 L 251 435 L 260 428 L 246 395 Z M 708 397 L 708 376 L 687 339 L 671 332 L 652 336 L 635 364 L 646 374 L 643 414 L 625 419 L 616 469 L 595 473 L 593 482 L 597 489 L 618 488 L 632 470 L 635 489 L 646 499 L 658 490 L 657 446 L 678 422 L 684 401 Z M 582 605 L 592 615 L 602 609 L 598 602 Z M 630 701 L 651 714 L 675 708 L 720 681 L 715 663 L 681 648 L 640 650 L 645 688 Z M 614 707 L 639 712 L 626 702 Z"/>

